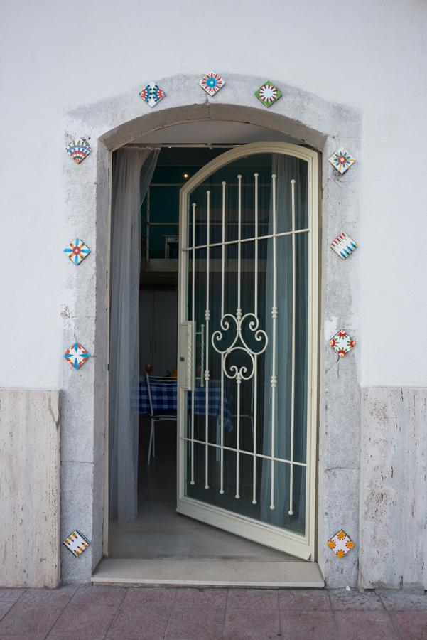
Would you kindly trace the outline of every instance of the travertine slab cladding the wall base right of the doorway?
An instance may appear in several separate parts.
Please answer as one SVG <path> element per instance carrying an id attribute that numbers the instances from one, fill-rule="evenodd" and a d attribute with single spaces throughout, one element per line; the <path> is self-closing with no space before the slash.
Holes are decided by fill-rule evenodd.
<path id="1" fill-rule="evenodd" d="M 427 588 L 427 389 L 362 389 L 360 587 Z"/>

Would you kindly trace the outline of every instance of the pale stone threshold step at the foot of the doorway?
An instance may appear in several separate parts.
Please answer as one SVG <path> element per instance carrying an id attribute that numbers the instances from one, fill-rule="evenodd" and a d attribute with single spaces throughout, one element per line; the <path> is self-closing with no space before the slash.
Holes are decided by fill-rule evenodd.
<path id="1" fill-rule="evenodd" d="M 324 587 L 315 562 L 102 558 L 92 585 Z"/>

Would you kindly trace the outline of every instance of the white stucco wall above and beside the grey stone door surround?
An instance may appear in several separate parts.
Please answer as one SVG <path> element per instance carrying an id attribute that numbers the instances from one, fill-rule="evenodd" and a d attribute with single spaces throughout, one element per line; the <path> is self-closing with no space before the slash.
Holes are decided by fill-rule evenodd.
<path id="1" fill-rule="evenodd" d="M 2 3 L 0 386 L 61 385 L 64 108 L 210 68 L 362 110 L 361 382 L 427 385 L 426 18 L 421 0 Z"/>

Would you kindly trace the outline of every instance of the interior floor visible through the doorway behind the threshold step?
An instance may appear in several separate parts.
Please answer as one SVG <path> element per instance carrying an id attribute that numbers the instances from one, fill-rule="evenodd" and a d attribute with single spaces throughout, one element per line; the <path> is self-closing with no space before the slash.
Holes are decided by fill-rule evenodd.
<path id="1" fill-rule="evenodd" d="M 156 426 L 156 457 L 149 466 L 148 431 L 148 419 L 141 417 L 138 518 L 126 526 L 110 522 L 111 558 L 301 562 L 176 513 L 176 422 L 160 422 Z"/>

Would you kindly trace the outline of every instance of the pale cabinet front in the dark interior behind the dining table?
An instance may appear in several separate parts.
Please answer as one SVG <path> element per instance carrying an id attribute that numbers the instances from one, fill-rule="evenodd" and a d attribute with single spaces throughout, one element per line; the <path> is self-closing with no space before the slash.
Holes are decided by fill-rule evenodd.
<path id="1" fill-rule="evenodd" d="M 139 363 L 144 375 L 146 364 L 153 375 L 166 375 L 177 361 L 178 292 L 139 292 Z"/>

